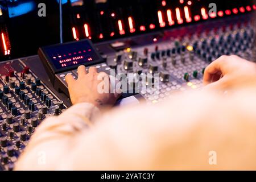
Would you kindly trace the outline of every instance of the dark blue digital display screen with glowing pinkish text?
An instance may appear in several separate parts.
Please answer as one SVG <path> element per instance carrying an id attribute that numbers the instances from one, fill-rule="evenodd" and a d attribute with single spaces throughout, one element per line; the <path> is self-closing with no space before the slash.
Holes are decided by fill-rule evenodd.
<path id="1" fill-rule="evenodd" d="M 64 69 L 101 60 L 89 40 L 44 47 L 55 69 Z"/>

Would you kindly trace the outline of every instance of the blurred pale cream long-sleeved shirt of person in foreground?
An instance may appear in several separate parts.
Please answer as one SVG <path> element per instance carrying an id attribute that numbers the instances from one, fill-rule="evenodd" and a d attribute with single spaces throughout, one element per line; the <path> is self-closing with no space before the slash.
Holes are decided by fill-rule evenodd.
<path id="1" fill-rule="evenodd" d="M 104 114 L 77 104 L 36 129 L 15 169 L 256 169 L 255 93 L 183 93 Z"/>

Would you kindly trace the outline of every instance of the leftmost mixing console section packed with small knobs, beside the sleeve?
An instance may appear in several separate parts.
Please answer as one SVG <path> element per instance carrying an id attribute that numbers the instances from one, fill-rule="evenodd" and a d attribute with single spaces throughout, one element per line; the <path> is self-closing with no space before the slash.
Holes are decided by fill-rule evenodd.
<path id="1" fill-rule="evenodd" d="M 21 61 L 0 64 L 0 168 L 12 170 L 37 126 L 66 107 Z"/>

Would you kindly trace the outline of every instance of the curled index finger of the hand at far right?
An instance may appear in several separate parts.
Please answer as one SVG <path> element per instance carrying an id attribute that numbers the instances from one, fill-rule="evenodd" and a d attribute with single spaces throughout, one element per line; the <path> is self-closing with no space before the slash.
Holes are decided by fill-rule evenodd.
<path id="1" fill-rule="evenodd" d="M 224 60 L 228 59 L 228 56 L 221 56 L 217 60 L 213 61 L 211 64 L 205 68 L 203 82 L 205 85 L 212 82 L 214 75 L 223 75 L 223 64 Z"/>

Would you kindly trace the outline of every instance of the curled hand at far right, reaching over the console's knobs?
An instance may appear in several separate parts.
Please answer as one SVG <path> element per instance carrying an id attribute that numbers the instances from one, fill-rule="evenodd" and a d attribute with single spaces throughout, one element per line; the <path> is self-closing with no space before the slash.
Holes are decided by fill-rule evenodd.
<path id="1" fill-rule="evenodd" d="M 206 88 L 227 90 L 256 85 L 256 64 L 238 56 L 221 56 L 204 72 Z"/>

